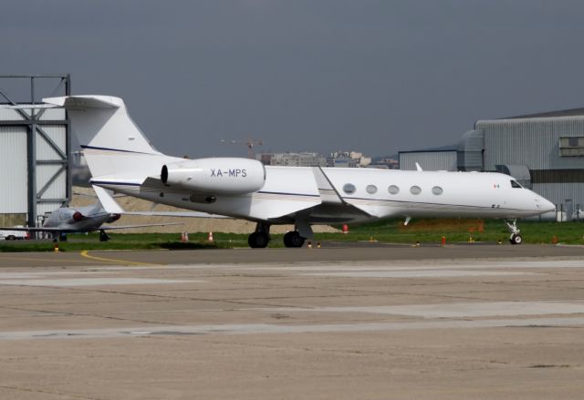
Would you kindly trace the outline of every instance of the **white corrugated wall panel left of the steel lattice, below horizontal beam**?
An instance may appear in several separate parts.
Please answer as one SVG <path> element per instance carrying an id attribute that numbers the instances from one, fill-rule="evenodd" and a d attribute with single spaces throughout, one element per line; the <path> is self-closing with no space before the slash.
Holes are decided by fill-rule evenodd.
<path id="1" fill-rule="evenodd" d="M 26 127 L 0 127 L 0 213 L 26 213 Z"/>

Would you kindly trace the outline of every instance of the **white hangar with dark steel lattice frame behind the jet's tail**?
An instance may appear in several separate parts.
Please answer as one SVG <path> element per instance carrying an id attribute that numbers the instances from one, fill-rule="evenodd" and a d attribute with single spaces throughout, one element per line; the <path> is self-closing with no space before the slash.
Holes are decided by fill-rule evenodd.
<path id="1" fill-rule="evenodd" d="M 70 77 L 0 76 L 0 103 L 70 95 Z M 36 226 L 70 200 L 70 135 L 64 109 L 0 108 L 0 224 Z"/>

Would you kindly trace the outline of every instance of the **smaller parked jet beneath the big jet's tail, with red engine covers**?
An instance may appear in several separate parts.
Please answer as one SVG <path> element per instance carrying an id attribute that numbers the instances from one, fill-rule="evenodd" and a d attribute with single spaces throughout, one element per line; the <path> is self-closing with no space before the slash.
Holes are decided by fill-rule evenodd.
<path id="1" fill-rule="evenodd" d="M 142 225 L 104 225 L 120 220 L 120 212 L 106 211 L 99 201 L 82 207 L 60 207 L 48 214 L 43 226 L 36 227 L 2 227 L 0 231 L 26 231 L 26 232 L 49 232 L 53 237 L 61 241 L 67 241 L 68 233 L 99 231 L 99 241 L 109 241 L 110 236 L 106 231 L 125 230 L 131 228 L 144 228 L 152 226 L 177 225 L 174 222 L 168 223 L 148 223 Z M 129 212 L 133 215 L 161 215 L 153 212 Z M 170 214 L 170 213 L 166 213 Z"/>

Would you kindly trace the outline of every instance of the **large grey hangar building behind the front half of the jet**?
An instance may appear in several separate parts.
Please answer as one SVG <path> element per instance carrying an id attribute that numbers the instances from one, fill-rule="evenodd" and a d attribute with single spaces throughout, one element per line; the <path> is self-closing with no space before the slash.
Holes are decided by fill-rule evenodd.
<path id="1" fill-rule="evenodd" d="M 400 166 L 449 169 L 454 151 L 400 153 Z M 402 164 L 403 163 L 403 164 Z M 401 167 L 400 167 L 401 168 Z M 456 148 L 452 170 L 498 171 L 552 201 L 566 218 L 584 209 L 584 108 L 509 118 L 479 119 Z"/>

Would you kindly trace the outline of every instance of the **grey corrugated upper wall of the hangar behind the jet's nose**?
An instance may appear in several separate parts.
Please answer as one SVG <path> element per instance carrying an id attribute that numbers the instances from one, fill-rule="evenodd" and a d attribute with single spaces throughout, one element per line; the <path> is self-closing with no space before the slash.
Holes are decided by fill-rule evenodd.
<path id="1" fill-rule="evenodd" d="M 559 138 L 584 136 L 584 116 L 478 121 L 485 133 L 485 170 L 496 164 L 528 169 L 581 169 L 582 157 L 560 157 Z"/>

